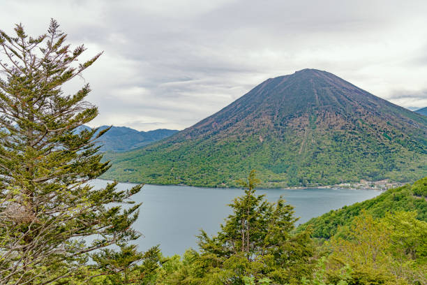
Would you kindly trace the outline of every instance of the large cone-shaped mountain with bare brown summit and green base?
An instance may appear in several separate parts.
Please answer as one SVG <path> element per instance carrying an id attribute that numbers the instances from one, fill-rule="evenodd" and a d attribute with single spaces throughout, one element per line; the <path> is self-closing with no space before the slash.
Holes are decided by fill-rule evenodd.
<path id="1" fill-rule="evenodd" d="M 427 175 L 427 117 L 326 71 L 262 82 L 219 112 L 152 145 L 107 154 L 104 178 L 234 187 L 407 182 Z"/>

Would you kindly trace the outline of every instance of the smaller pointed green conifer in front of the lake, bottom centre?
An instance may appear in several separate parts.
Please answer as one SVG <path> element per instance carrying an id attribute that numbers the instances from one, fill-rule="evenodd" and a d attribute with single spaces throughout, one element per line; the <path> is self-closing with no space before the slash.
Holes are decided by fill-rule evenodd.
<path id="1" fill-rule="evenodd" d="M 297 284 L 313 270 L 315 247 L 309 233 L 292 235 L 293 208 L 280 198 L 269 203 L 255 195 L 255 171 L 247 182 L 241 182 L 245 195 L 230 204 L 233 213 L 221 225 L 217 235 L 199 235 L 200 254 L 187 272 L 197 272 L 197 278 L 185 275 L 180 284 Z M 253 278 L 253 279 L 251 279 Z"/>

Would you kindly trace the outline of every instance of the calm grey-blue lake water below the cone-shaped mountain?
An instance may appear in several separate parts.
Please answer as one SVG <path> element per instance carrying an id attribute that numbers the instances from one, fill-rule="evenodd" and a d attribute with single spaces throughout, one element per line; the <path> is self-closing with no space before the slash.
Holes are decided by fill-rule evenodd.
<path id="1" fill-rule="evenodd" d="M 93 180 L 95 187 L 104 187 L 105 180 Z M 117 189 L 128 189 L 135 184 L 120 183 Z M 137 243 L 140 250 L 160 244 L 163 254 L 183 254 L 197 248 L 195 235 L 201 228 L 209 234 L 216 233 L 219 225 L 230 214 L 227 204 L 244 193 L 241 189 L 198 188 L 186 186 L 145 185 L 133 200 L 142 202 L 140 217 L 134 228 L 144 238 Z M 304 223 L 313 217 L 373 198 L 380 194 L 373 190 L 349 189 L 260 189 L 270 201 L 283 195 L 294 205 L 295 214 Z"/>

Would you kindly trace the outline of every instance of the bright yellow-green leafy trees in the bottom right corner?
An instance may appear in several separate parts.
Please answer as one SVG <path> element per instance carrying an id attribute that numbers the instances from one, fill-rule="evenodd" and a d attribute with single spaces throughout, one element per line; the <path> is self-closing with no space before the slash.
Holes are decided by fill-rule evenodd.
<path id="1" fill-rule="evenodd" d="M 396 212 L 374 219 L 362 212 L 324 244 L 330 252 L 324 280 L 337 284 L 347 270 L 347 284 L 426 284 L 427 223 L 415 216 Z"/>

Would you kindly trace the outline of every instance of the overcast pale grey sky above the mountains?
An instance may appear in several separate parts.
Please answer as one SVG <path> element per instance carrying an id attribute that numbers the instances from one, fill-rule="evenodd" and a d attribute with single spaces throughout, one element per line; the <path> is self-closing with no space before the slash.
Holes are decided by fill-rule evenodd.
<path id="1" fill-rule="evenodd" d="M 30 36 L 50 18 L 103 55 L 89 82 L 89 125 L 185 129 L 268 78 L 304 68 L 338 75 L 392 103 L 427 106 L 427 1 L 0 1 L 0 29 Z"/>

